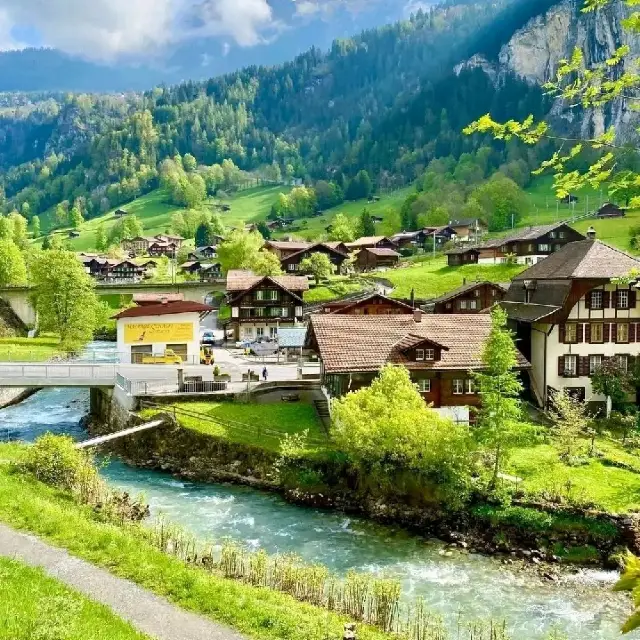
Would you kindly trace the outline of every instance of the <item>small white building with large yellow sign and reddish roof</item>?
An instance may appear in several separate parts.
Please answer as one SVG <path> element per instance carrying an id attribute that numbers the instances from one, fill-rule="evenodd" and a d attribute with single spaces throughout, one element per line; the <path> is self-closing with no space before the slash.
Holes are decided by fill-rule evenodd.
<path id="1" fill-rule="evenodd" d="M 200 317 L 213 308 L 186 300 L 131 307 L 118 313 L 120 362 L 139 363 L 170 349 L 185 364 L 200 363 Z"/>

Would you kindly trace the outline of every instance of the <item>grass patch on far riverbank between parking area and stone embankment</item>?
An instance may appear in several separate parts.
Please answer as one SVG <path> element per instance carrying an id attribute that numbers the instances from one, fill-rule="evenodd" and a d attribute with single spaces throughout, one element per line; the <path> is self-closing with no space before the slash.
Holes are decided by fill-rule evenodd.
<path id="1" fill-rule="evenodd" d="M 276 453 L 286 435 L 307 431 L 314 450 L 316 445 L 322 446 L 321 443 L 327 441 L 316 410 L 310 404 L 182 402 L 172 406 L 176 408 L 180 424 L 187 429 Z"/>

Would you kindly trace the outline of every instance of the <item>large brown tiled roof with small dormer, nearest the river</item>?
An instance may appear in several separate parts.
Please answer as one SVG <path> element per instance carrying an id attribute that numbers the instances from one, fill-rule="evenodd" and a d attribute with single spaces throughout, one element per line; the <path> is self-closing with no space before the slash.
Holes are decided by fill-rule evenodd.
<path id="1" fill-rule="evenodd" d="M 413 315 L 319 314 L 311 316 L 309 324 L 326 373 L 378 371 L 387 362 L 409 369 L 480 369 L 490 330 L 489 315 L 423 314 L 416 322 Z M 424 340 L 442 346 L 441 360 L 415 362 L 402 352 Z M 520 367 L 529 366 L 523 356 L 518 358 Z"/>

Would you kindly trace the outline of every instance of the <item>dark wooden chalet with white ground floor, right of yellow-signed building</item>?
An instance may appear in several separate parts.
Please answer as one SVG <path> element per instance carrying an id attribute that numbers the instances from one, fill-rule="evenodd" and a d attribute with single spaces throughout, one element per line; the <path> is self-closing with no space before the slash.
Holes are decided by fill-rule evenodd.
<path id="1" fill-rule="evenodd" d="M 227 304 L 231 307 L 228 327 L 236 340 L 276 337 L 278 327 L 295 326 L 304 316 L 307 278 L 257 276 L 232 269 L 227 273 Z"/>

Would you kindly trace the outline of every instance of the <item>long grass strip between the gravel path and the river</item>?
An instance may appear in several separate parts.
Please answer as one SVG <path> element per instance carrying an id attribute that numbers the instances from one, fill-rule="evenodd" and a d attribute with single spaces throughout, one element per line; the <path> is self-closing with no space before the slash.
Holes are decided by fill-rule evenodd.
<path id="1" fill-rule="evenodd" d="M 38 535 L 184 609 L 233 627 L 248 638 L 342 638 L 343 623 L 347 621 L 342 616 L 283 593 L 185 565 L 154 548 L 141 529 L 100 522 L 90 507 L 80 506 L 67 494 L 15 472 L 8 462 L 20 460 L 23 455 L 23 446 L 0 445 L 0 521 Z M 358 637 L 391 638 L 365 625 L 359 625 Z"/>

